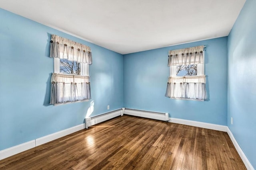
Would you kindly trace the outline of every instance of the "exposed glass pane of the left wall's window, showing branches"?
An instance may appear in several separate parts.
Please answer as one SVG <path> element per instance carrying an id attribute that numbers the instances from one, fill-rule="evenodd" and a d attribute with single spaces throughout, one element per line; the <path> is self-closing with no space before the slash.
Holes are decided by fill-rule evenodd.
<path id="1" fill-rule="evenodd" d="M 69 61 L 68 59 L 60 59 L 60 73 L 80 75 L 81 63 L 77 61 Z"/>

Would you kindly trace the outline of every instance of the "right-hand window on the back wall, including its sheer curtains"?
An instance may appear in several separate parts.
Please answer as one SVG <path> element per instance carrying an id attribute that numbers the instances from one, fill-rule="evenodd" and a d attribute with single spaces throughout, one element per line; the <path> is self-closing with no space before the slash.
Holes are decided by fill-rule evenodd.
<path id="1" fill-rule="evenodd" d="M 206 100 L 204 46 L 169 51 L 170 77 L 165 96 L 173 99 Z"/>

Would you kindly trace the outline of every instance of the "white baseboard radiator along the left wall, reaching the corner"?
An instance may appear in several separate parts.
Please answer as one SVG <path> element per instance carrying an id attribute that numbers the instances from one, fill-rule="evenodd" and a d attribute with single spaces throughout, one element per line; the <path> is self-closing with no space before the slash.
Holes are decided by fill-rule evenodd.
<path id="1" fill-rule="evenodd" d="M 124 108 L 110 111 L 108 113 L 103 113 L 101 115 L 85 118 L 85 128 L 88 129 L 88 127 L 96 125 L 103 121 L 107 121 L 108 119 L 112 119 L 117 116 L 122 116 L 123 113 L 124 113 Z"/>

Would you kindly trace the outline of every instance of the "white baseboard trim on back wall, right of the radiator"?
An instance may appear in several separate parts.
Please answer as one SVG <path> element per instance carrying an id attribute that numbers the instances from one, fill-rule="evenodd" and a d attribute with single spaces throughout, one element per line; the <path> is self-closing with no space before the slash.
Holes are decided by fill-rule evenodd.
<path id="1" fill-rule="evenodd" d="M 227 126 L 224 126 L 224 125 L 216 125 L 212 123 L 204 123 L 200 121 L 192 121 L 192 120 L 176 119 L 176 118 L 170 118 L 169 122 L 227 132 Z"/>

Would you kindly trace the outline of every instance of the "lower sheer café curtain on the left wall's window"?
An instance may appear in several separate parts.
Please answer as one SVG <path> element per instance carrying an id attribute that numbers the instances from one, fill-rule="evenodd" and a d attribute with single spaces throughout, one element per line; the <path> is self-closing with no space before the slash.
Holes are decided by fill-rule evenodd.
<path id="1" fill-rule="evenodd" d="M 53 73 L 50 104 L 91 99 L 89 76 Z"/>

